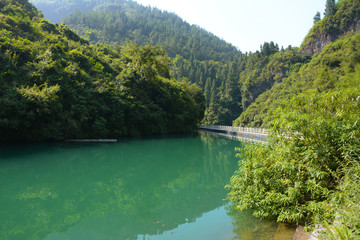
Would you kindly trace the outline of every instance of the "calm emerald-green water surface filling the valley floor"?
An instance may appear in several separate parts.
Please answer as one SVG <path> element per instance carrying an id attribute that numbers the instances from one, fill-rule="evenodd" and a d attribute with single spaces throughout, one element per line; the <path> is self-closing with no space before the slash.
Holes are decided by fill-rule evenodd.
<path id="1" fill-rule="evenodd" d="M 0 239 L 291 239 L 225 200 L 240 142 L 195 136 L 0 147 Z"/>

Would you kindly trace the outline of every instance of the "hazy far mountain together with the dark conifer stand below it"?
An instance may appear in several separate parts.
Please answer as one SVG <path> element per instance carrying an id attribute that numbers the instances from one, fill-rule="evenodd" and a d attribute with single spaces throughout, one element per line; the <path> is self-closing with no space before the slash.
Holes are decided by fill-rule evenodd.
<path id="1" fill-rule="evenodd" d="M 238 66 L 239 59 L 244 55 L 213 34 L 184 22 L 173 13 L 143 7 L 132 1 L 33 2 L 43 9 L 45 17 L 54 13 L 49 9 L 50 5 L 52 9 L 70 9 L 69 6 L 73 6 L 71 11 L 81 2 L 84 6 L 91 6 L 92 11 L 76 12 L 64 18 L 90 42 L 110 43 L 116 48 L 129 39 L 140 45 L 164 47 L 174 58 L 171 68 L 174 78 L 196 83 L 206 92 L 204 123 L 231 124 L 241 113 L 241 95 L 238 94 L 240 69 L 232 66 Z M 56 14 L 61 16 L 61 12 Z M 234 87 L 232 91 L 225 89 L 225 85 L 230 84 Z M 214 93 L 211 94 L 211 91 Z M 227 96 L 223 96 L 224 91 Z"/>

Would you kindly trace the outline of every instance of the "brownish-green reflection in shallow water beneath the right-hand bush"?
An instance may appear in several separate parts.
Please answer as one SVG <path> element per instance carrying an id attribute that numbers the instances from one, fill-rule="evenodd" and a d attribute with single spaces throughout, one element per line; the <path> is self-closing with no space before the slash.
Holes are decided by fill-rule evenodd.
<path id="1" fill-rule="evenodd" d="M 249 211 L 238 211 L 230 204 L 227 214 L 233 219 L 233 240 L 289 240 L 295 229 L 275 220 L 260 220 Z"/>

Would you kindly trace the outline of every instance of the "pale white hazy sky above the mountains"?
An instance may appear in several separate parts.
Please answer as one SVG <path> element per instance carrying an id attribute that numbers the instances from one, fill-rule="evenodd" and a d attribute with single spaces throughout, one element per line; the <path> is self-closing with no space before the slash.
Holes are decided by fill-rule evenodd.
<path id="1" fill-rule="evenodd" d="M 135 0 L 174 12 L 186 22 L 238 47 L 256 51 L 270 41 L 279 46 L 300 46 L 326 0 Z"/>

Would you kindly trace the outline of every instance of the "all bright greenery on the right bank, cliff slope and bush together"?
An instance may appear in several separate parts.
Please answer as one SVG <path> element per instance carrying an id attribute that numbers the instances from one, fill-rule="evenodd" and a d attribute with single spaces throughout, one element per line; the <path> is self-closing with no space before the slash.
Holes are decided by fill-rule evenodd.
<path id="1" fill-rule="evenodd" d="M 321 226 L 321 239 L 358 239 L 360 2 L 327 1 L 325 15 L 302 46 L 319 53 L 234 121 L 269 127 L 272 139 L 241 150 L 229 198 L 258 217 Z"/>

